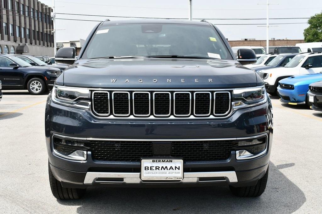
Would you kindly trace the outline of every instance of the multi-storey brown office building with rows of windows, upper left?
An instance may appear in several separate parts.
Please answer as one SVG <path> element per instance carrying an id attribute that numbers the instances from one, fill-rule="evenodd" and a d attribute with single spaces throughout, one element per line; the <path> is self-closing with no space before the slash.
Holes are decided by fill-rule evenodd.
<path id="1" fill-rule="evenodd" d="M 0 53 L 53 56 L 52 8 L 37 0 L 0 0 Z"/>

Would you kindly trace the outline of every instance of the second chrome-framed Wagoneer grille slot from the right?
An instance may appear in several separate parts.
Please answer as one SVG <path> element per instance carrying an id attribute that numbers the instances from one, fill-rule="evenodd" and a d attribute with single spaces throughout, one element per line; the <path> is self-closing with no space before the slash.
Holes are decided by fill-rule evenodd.
<path id="1" fill-rule="evenodd" d="M 194 115 L 208 116 L 211 113 L 211 93 L 194 92 Z"/>

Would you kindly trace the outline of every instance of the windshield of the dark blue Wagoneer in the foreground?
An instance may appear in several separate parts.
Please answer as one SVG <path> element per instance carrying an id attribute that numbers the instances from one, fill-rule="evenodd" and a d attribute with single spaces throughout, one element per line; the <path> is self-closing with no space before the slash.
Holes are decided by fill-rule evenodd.
<path id="1" fill-rule="evenodd" d="M 103 25 L 81 58 L 175 55 L 233 59 L 213 26 L 162 23 Z"/>

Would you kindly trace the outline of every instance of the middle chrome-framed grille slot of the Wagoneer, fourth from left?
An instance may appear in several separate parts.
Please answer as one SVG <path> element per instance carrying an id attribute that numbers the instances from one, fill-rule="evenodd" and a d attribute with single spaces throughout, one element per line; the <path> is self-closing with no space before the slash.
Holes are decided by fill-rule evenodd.
<path id="1" fill-rule="evenodd" d="M 171 93 L 154 92 L 153 93 L 153 111 L 154 116 L 170 116 L 171 114 Z"/>

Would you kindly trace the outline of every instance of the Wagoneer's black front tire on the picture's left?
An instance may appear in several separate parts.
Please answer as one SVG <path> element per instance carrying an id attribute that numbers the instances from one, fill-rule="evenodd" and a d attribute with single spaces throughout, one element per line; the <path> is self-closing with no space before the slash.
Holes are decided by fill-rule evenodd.
<path id="1" fill-rule="evenodd" d="M 77 189 L 77 188 L 65 188 L 62 187 L 60 181 L 58 181 L 52 174 L 52 170 L 48 162 L 48 174 L 49 174 L 49 183 L 52 190 L 52 195 L 55 198 L 60 200 L 70 200 L 70 199 L 80 199 L 86 192 L 86 189 Z"/>

